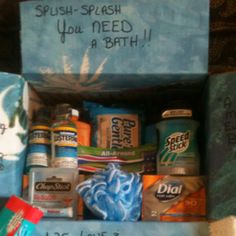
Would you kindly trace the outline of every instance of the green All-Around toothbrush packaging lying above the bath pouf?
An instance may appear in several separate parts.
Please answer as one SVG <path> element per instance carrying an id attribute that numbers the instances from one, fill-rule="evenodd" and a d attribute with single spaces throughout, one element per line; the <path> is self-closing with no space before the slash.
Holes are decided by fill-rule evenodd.
<path id="1" fill-rule="evenodd" d="M 119 163 L 127 172 L 143 173 L 153 169 L 156 173 L 156 145 L 122 149 L 78 146 L 80 172 L 94 173 L 104 169 L 108 163 Z"/>

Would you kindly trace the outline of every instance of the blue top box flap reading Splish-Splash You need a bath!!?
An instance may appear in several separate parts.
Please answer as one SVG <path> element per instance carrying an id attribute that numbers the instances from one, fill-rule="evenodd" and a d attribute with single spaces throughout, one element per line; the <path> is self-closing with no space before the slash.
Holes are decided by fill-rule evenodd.
<path id="1" fill-rule="evenodd" d="M 59 93 L 199 79 L 208 18 L 208 0 L 22 2 L 23 74 Z"/>

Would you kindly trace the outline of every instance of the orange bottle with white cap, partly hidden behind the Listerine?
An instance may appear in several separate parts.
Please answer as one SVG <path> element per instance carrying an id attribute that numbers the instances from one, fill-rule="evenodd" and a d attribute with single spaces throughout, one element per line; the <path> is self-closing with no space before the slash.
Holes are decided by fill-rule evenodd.
<path id="1" fill-rule="evenodd" d="M 75 122 L 78 131 L 78 145 L 90 146 L 91 145 L 91 125 L 79 120 L 79 111 L 72 109 L 71 120 Z"/>

